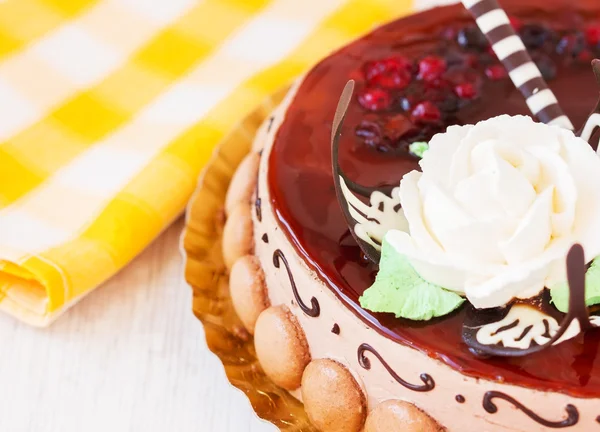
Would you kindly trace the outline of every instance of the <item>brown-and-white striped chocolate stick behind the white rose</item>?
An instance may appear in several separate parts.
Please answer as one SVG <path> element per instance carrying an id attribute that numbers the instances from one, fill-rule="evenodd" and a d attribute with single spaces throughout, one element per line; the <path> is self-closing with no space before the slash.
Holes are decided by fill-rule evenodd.
<path id="1" fill-rule="evenodd" d="M 573 130 L 573 124 L 558 105 L 556 96 L 548 88 L 498 1 L 462 0 L 462 3 L 477 21 L 531 112 L 544 123 Z"/>

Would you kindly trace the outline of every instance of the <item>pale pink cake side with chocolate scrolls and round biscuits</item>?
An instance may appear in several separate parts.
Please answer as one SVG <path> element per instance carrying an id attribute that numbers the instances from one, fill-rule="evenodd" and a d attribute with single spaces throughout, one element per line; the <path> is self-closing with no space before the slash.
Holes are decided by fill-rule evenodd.
<path id="1" fill-rule="evenodd" d="M 232 211 L 225 228 L 238 233 L 224 236 L 223 243 L 234 268 L 232 297 L 255 334 L 266 374 L 304 400 L 309 417 L 325 431 L 360 431 L 365 422 L 367 431 L 398 424 L 402 430 L 414 424 L 414 430 L 490 432 L 597 427 L 597 399 L 465 376 L 368 327 L 307 267 L 278 225 L 267 185 L 274 137 L 297 88 L 257 134 L 248 160 L 260 153 L 260 168 L 248 168 L 248 162 L 236 174 L 251 178 L 258 169 L 258 195 L 249 199 L 243 182 L 235 180 L 238 186 L 228 194 L 229 202 L 245 209 Z M 248 224 L 250 234 L 240 230 Z M 248 265 L 248 254 L 258 262 Z M 319 385 L 331 376 L 334 383 Z"/>

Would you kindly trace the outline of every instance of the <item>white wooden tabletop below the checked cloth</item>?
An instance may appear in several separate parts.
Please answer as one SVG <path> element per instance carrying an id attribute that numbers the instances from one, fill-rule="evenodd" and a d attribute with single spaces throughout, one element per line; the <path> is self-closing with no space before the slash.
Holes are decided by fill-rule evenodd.
<path id="1" fill-rule="evenodd" d="M 208 351 L 178 221 L 40 330 L 0 316 L 2 432 L 267 432 Z"/>

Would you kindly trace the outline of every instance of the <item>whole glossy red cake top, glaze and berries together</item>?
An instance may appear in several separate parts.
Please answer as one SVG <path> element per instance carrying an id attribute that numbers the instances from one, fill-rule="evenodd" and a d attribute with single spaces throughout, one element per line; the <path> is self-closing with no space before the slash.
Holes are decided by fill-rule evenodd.
<path id="1" fill-rule="evenodd" d="M 598 96 L 589 59 L 600 56 L 597 0 L 504 0 L 512 22 L 576 127 Z M 536 7 L 528 7 L 534 3 Z M 557 4 L 563 5 L 563 9 Z M 587 5 L 586 13 L 573 9 Z M 543 7 L 539 7 L 543 5 Z M 583 7 L 583 6 L 582 6 Z M 358 298 L 377 268 L 348 232 L 331 175 L 330 125 L 349 78 L 355 103 L 345 121 L 340 163 L 363 185 L 395 184 L 418 169 L 408 151 L 453 124 L 529 114 L 521 94 L 460 5 L 376 30 L 318 64 L 305 78 L 269 160 L 272 206 L 298 253 L 368 325 L 464 374 L 582 397 L 600 396 L 600 331 L 531 356 L 484 360 L 462 342 L 464 310 L 429 322 L 374 314 Z"/>

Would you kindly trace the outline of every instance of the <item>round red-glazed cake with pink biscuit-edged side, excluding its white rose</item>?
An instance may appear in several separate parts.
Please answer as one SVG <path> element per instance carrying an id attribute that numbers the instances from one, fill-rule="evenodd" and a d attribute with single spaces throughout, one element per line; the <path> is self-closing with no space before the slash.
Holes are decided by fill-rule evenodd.
<path id="1" fill-rule="evenodd" d="M 483 7 L 487 0 L 471 3 Z M 560 107 L 576 128 L 583 126 L 599 92 L 590 63 L 600 57 L 600 3 L 501 3 Z M 348 80 L 355 82 L 355 90 L 339 123 L 339 154 L 332 153 L 334 115 Z M 436 160 L 443 160 L 443 149 L 435 149 L 446 145 L 444 140 L 452 134 L 462 133 L 465 125 L 478 125 L 475 128 L 482 131 L 504 128 L 517 137 L 529 134 L 533 140 L 545 140 L 546 129 L 536 132 L 543 126 L 562 134 L 559 141 L 571 136 L 581 141 L 557 127 L 530 125 L 522 115 L 531 113 L 506 67 L 465 7 L 453 5 L 392 22 L 333 53 L 293 86 L 261 127 L 227 195 L 223 256 L 234 307 L 254 335 L 262 368 L 304 403 L 318 430 L 600 430 L 600 330 L 577 328 L 567 337 L 573 330 L 569 328 L 562 339 L 551 338 L 558 329 L 552 323 L 573 320 L 574 297 L 560 306 L 559 296 L 568 288 L 542 285 L 542 291 L 508 295 L 506 300 L 500 299 L 506 296 L 502 290 L 489 296 L 481 291 L 469 295 L 468 290 L 441 293 L 437 273 L 426 277 L 425 267 L 415 258 L 406 270 L 418 273 L 410 282 L 416 286 L 411 295 L 432 290 L 440 300 L 434 308 L 404 299 L 404 308 L 387 310 L 385 305 L 393 302 L 375 301 L 369 290 L 390 283 L 384 266 L 393 260 L 391 247 L 386 252 L 384 244 L 380 262 L 369 259 L 360 233 L 349 226 L 333 174 L 338 164 L 342 179 L 352 184 L 392 190 L 390 185 L 398 186 L 411 172 L 428 175 L 425 162 L 431 166 L 434 151 Z M 488 119 L 496 123 L 485 122 Z M 594 142 L 597 135 L 590 140 L 593 148 Z M 427 148 L 430 156 L 423 154 Z M 449 164 L 454 155 L 447 157 Z M 438 169 L 445 169 L 443 162 Z M 558 178 L 558 168 L 556 172 Z M 576 172 L 570 175 L 577 177 Z M 486 207 L 485 198 L 473 198 L 473 190 L 469 202 Z M 581 198 L 584 204 L 585 200 Z M 554 208 L 562 205 L 556 201 Z M 379 205 L 383 203 L 393 201 Z M 408 209 L 405 212 L 410 225 Z M 450 224 L 456 217 L 445 210 L 435 215 L 429 222 Z M 536 225 L 541 223 L 532 227 Z M 472 242 L 486 235 L 485 230 L 479 237 L 468 234 L 458 240 L 464 242 L 459 246 L 471 255 L 485 254 L 485 245 L 479 252 Z M 589 244 L 600 239 L 583 240 L 589 251 Z M 381 251 L 381 242 L 371 245 Z M 473 262 L 479 262 L 473 256 Z M 595 269 L 590 258 L 596 257 L 586 255 L 586 281 Z M 567 266 L 567 273 L 573 292 L 575 270 Z M 421 285 L 414 285 L 415 278 Z M 587 285 L 589 294 L 593 290 L 589 281 Z M 588 297 L 586 322 L 595 323 L 600 301 Z M 545 327 L 539 337 L 525 337 L 534 324 L 525 326 L 523 317 L 520 323 L 502 321 L 523 302 L 543 305 L 538 309 L 546 314 L 540 321 Z M 513 337 L 512 345 L 504 340 L 488 347 L 481 335 L 473 335 L 491 322 L 506 324 L 490 330 L 492 338 L 509 328 L 522 334 Z M 581 329 L 593 327 L 578 323 Z M 522 346 L 526 339 L 529 344 Z M 541 349 L 551 339 L 552 346 Z"/>

